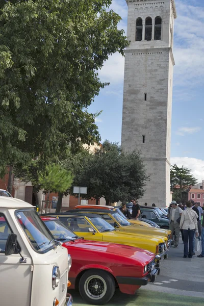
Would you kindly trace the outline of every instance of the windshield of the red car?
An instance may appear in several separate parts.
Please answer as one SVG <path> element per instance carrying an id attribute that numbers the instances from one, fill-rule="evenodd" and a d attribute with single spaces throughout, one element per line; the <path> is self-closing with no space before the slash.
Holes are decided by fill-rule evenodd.
<path id="1" fill-rule="evenodd" d="M 47 220 L 44 221 L 45 225 L 49 228 L 49 231 L 53 234 L 56 240 L 75 240 L 78 238 L 69 228 L 64 225 L 60 220 Z"/>

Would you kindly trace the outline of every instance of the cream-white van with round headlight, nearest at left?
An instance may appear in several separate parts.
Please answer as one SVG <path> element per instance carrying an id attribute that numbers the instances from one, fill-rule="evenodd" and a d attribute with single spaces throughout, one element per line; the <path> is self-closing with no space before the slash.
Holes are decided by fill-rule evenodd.
<path id="1" fill-rule="evenodd" d="M 71 306 L 71 258 L 29 203 L 0 197 L 0 304 Z"/>

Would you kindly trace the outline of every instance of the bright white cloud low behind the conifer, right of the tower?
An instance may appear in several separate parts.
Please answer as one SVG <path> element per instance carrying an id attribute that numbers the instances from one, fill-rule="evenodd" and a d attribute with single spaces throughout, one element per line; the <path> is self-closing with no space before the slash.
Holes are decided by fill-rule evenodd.
<path id="1" fill-rule="evenodd" d="M 192 157 L 172 157 L 171 164 L 176 164 L 178 167 L 184 166 L 192 171 L 193 176 L 198 180 L 198 183 L 204 180 L 204 161 Z"/>

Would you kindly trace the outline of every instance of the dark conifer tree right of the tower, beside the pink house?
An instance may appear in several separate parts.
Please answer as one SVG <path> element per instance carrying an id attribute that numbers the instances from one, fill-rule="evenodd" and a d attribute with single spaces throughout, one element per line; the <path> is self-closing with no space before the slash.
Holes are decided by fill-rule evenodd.
<path id="1" fill-rule="evenodd" d="M 176 164 L 171 167 L 170 181 L 173 199 L 177 202 L 185 202 L 188 199 L 189 187 L 197 183 L 197 180 L 191 174 L 191 170 L 184 166 L 179 168 Z"/>

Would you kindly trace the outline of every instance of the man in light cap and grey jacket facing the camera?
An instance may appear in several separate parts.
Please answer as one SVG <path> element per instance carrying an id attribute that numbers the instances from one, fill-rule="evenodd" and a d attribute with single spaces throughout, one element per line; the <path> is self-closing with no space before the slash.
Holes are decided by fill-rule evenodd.
<path id="1" fill-rule="evenodd" d="M 182 215 L 182 209 L 177 207 L 176 201 L 171 202 L 171 209 L 169 213 L 169 230 L 172 233 L 175 232 L 175 239 L 174 239 L 174 247 L 179 245 L 179 234 L 180 234 L 180 216 Z"/>

